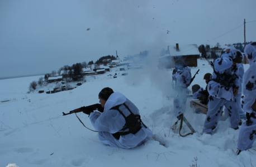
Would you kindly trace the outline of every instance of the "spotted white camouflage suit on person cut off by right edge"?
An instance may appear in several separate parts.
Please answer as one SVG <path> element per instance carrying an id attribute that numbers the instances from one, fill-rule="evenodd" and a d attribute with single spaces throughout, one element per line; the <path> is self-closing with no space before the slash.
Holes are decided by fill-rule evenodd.
<path id="1" fill-rule="evenodd" d="M 250 67 L 243 76 L 243 110 L 250 114 L 250 119 L 241 126 L 238 137 L 238 149 L 243 151 L 252 148 L 256 139 L 256 111 L 252 105 L 256 100 L 256 42 L 245 46 L 244 53 L 248 58 Z"/>

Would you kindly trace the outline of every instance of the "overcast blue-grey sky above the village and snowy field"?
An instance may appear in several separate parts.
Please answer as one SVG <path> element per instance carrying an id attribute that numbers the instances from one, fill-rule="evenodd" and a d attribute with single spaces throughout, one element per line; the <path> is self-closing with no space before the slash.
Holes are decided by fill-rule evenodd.
<path id="1" fill-rule="evenodd" d="M 256 41 L 255 7 L 255 0 L 0 0 L 0 77 L 50 73 L 116 51 L 157 56 L 175 43 L 244 42 L 244 19 L 246 42 Z"/>

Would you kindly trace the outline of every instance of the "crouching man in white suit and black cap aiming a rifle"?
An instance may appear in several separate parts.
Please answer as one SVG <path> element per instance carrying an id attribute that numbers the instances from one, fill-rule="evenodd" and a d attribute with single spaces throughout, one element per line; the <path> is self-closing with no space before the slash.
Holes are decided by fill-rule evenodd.
<path id="1" fill-rule="evenodd" d="M 100 104 L 81 107 L 68 114 L 83 112 L 89 115 L 103 144 L 130 149 L 144 144 L 153 135 L 141 121 L 139 109 L 120 92 L 113 92 L 111 88 L 105 87 L 99 92 L 98 98 Z M 63 115 L 68 114 L 63 112 Z M 82 122 L 80 119 L 79 121 Z"/>

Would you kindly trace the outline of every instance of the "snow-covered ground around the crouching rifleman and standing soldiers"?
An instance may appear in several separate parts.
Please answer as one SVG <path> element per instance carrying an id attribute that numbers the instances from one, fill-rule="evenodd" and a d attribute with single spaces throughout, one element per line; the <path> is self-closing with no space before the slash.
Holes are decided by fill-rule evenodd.
<path id="1" fill-rule="evenodd" d="M 249 65 L 244 67 L 246 70 Z M 203 75 L 212 73 L 212 68 L 207 61 L 198 59 L 192 76 L 198 69 L 192 85 L 205 87 Z M 202 135 L 206 115 L 196 114 L 189 107 L 191 99 L 187 100 L 185 116 L 197 132 L 181 137 L 170 130 L 177 121 L 173 116 L 176 95 L 171 87 L 171 70 L 157 70 L 151 65 L 125 72 L 128 75 L 122 76 L 124 71 L 112 68 L 96 78 L 88 77 L 74 90 L 56 94 L 26 94 L 30 82 L 40 76 L 0 80 L 0 99 L 10 100 L 0 103 L 0 166 L 189 166 L 196 157 L 200 166 L 256 166 L 256 143 L 253 149 L 235 155 L 239 130 L 231 129 L 228 120 L 220 121 L 213 135 Z M 115 73 L 117 78 L 113 78 Z M 153 131 L 151 140 L 129 150 L 110 148 L 100 143 L 97 132 L 86 129 L 74 114 L 62 115 L 98 103 L 98 93 L 104 87 L 111 87 L 134 102 L 143 122 Z M 93 129 L 87 115 L 78 116 Z M 183 123 L 182 134 L 187 132 L 190 131 Z"/>

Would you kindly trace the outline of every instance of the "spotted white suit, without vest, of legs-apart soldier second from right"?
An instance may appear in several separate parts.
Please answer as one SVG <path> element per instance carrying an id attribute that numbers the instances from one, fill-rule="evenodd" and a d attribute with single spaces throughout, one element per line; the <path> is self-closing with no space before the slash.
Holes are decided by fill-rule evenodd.
<path id="1" fill-rule="evenodd" d="M 214 61 L 214 70 L 215 72 L 219 72 L 220 74 L 236 74 L 237 76 L 235 78 L 235 83 L 233 87 L 239 90 L 238 70 L 236 69 L 236 66 L 232 66 L 235 56 L 236 53 L 231 51 L 228 53 L 223 53 L 220 58 L 217 58 Z M 209 102 L 208 112 L 206 115 L 205 124 L 203 126 L 203 133 L 207 134 L 212 134 L 212 130 L 217 127 L 223 106 L 227 108 L 227 113 L 225 114 L 229 116 L 229 121 L 233 129 L 238 129 L 238 125 L 240 122 L 238 107 L 235 103 L 235 97 L 233 94 L 233 87 L 223 86 L 218 82 L 215 82 L 214 79 L 217 77 L 215 72 L 212 73 L 213 80 L 210 81 L 207 86 L 207 90 L 209 92 Z"/>

